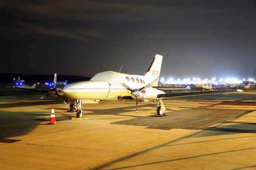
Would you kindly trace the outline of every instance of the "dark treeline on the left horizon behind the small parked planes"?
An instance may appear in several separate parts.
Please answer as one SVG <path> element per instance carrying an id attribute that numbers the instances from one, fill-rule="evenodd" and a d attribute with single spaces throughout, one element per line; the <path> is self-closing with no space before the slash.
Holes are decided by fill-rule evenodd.
<path id="1" fill-rule="evenodd" d="M 54 78 L 54 74 L 52 75 L 42 75 L 42 74 L 13 74 L 13 73 L 0 73 L 0 82 L 7 83 L 13 82 L 13 77 L 18 79 L 20 76 L 20 80 L 25 80 L 25 82 L 52 82 Z M 88 81 L 90 77 L 85 76 L 66 76 L 66 75 L 58 75 L 57 74 L 57 81 L 66 81 L 68 83 L 71 82 L 79 82 L 79 81 Z"/>

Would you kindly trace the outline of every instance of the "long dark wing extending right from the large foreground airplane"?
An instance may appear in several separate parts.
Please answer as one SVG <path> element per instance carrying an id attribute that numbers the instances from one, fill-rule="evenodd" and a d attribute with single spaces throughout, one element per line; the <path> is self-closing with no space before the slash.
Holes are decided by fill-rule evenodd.
<path id="1" fill-rule="evenodd" d="M 196 95 L 196 94 L 210 94 L 210 93 L 222 93 L 222 92 L 236 92 L 236 89 L 232 90 L 213 90 L 213 91 L 198 91 L 198 92 L 182 92 L 182 93 L 165 93 L 165 94 L 158 94 L 158 98 L 171 98 L 175 96 L 189 96 L 189 95 Z"/>

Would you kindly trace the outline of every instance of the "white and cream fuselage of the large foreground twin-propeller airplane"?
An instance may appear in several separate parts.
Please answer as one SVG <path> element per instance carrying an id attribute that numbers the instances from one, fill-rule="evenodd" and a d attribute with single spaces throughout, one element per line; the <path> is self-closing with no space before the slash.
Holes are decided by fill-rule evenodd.
<path id="1" fill-rule="evenodd" d="M 132 96 L 122 83 L 132 89 L 140 89 L 152 82 L 158 83 L 159 76 L 148 75 L 139 76 L 123 74 L 113 71 L 101 72 L 93 76 L 89 81 L 75 82 L 63 88 L 63 93 L 68 98 L 82 100 L 119 100 L 119 96 Z M 153 85 L 152 85 L 153 86 Z M 161 90 L 146 88 L 138 97 L 139 100 L 154 100 L 158 94 L 163 94 Z"/>

